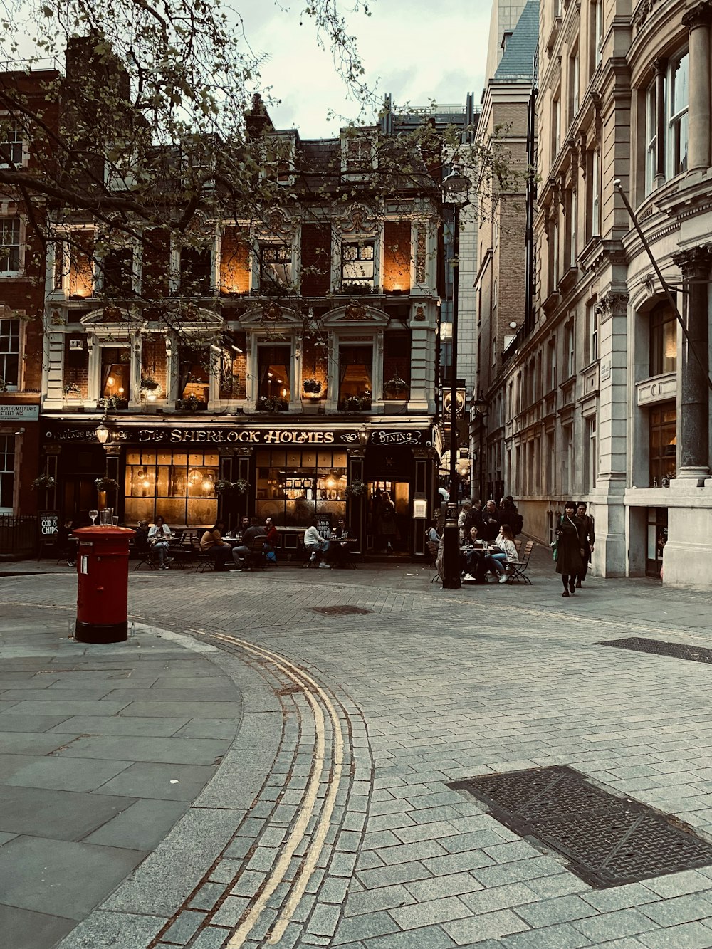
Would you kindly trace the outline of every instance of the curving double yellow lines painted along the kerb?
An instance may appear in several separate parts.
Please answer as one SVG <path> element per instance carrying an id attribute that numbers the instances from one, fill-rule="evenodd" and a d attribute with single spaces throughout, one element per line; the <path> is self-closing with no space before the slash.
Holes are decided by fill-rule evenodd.
<path id="1" fill-rule="evenodd" d="M 318 807 L 317 797 L 319 785 L 322 780 L 322 774 L 325 769 L 327 771 L 327 775 L 329 771 L 328 762 L 326 760 L 326 719 L 324 712 L 319 705 L 319 700 L 321 700 L 323 703 L 328 712 L 328 717 L 330 718 L 331 732 L 333 735 L 333 748 L 331 753 L 331 776 L 328 781 L 328 791 L 321 808 L 321 814 L 317 826 L 314 830 L 314 833 L 311 837 L 311 842 L 309 843 L 309 847 L 304 856 L 304 860 L 299 868 L 299 872 L 297 873 L 295 880 L 291 885 L 289 897 L 283 905 L 279 916 L 274 922 L 272 931 L 268 934 L 268 944 L 274 945 L 284 936 L 291 917 L 299 905 L 299 901 L 304 896 L 311 874 L 314 872 L 316 864 L 319 860 L 319 855 L 321 854 L 322 848 L 324 847 L 324 843 L 327 839 L 328 828 L 331 825 L 331 814 L 333 813 L 333 809 L 336 804 L 336 795 L 339 792 L 341 775 L 344 770 L 344 735 L 341 728 L 341 721 L 339 720 L 339 716 L 331 699 L 328 697 L 328 693 L 319 685 L 318 682 L 312 679 L 308 673 L 304 672 L 304 670 L 300 669 L 298 666 L 294 665 L 293 662 L 290 662 L 283 656 L 280 656 L 278 653 L 274 653 L 272 650 L 265 649 L 262 646 L 255 646 L 252 642 L 239 640 L 234 636 L 228 636 L 224 633 L 215 633 L 215 639 L 221 640 L 222 642 L 231 642 L 234 645 L 244 649 L 246 652 L 252 653 L 257 659 L 271 661 L 280 670 L 280 672 L 283 673 L 283 675 L 290 679 L 304 693 L 304 697 L 309 702 L 309 708 L 311 709 L 311 713 L 314 716 L 314 726 L 316 732 L 314 756 L 311 763 L 311 769 L 309 771 L 307 790 L 305 791 L 304 797 L 302 798 L 302 803 L 299 806 L 297 818 L 291 828 L 290 836 L 287 839 L 287 843 L 285 844 L 284 850 L 282 851 L 279 860 L 277 860 L 276 864 L 272 867 L 272 872 L 265 882 L 262 892 L 255 902 L 253 902 L 250 912 L 248 913 L 245 920 L 241 922 L 234 931 L 231 940 L 228 942 L 228 949 L 239 949 L 239 947 L 244 944 L 245 940 L 252 932 L 253 927 L 259 919 L 262 911 L 267 906 L 272 893 L 277 888 L 277 886 L 283 882 L 285 876 L 287 875 L 291 858 L 294 856 L 297 847 L 299 847 L 306 835 L 309 820 Z"/>

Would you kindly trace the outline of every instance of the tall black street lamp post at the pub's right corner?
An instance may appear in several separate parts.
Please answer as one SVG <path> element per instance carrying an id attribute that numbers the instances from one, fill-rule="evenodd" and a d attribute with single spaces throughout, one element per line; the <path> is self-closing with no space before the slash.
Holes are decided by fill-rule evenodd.
<path id="1" fill-rule="evenodd" d="M 453 209 L 453 322 L 450 363 L 450 502 L 445 520 L 442 564 L 443 589 L 459 589 L 458 531 L 458 304 L 459 213 L 469 203 L 470 179 L 452 168 L 442 179 L 442 200 Z"/>

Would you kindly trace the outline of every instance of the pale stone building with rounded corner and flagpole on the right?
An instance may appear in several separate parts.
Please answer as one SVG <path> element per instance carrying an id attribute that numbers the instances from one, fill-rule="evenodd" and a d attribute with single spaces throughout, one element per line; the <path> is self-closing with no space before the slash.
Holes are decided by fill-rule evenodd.
<path id="1" fill-rule="evenodd" d="M 502 470 L 528 532 L 551 540 L 581 498 L 596 573 L 664 564 L 706 589 L 711 24 L 709 3 L 539 5 L 532 317 L 480 366 L 488 480 Z"/>

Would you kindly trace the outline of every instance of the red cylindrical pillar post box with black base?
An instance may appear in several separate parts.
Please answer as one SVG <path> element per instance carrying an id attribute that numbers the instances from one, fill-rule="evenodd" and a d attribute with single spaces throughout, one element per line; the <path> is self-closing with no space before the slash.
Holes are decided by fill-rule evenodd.
<path id="1" fill-rule="evenodd" d="M 128 639 L 129 528 L 91 527 L 72 531 L 77 538 L 77 623 L 80 642 Z"/>

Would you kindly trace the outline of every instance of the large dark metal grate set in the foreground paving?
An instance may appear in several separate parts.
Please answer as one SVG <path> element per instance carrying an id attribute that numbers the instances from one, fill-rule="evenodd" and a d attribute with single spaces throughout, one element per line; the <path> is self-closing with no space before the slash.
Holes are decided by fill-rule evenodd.
<path id="1" fill-rule="evenodd" d="M 678 818 L 591 784 L 566 765 L 455 781 L 520 837 L 552 847 L 591 886 L 712 864 L 712 845 Z"/>

